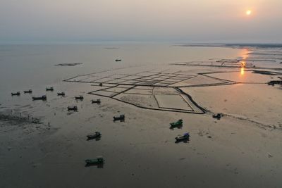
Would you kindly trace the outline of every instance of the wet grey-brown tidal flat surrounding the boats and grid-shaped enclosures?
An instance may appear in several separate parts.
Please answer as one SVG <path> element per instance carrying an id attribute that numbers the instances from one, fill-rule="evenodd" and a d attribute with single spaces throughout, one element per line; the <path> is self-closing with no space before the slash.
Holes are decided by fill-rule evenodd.
<path id="1" fill-rule="evenodd" d="M 281 67 L 271 65 L 275 66 Z M 181 82 L 173 77 L 167 77 L 168 82 L 149 77 L 157 84 L 166 83 L 164 87 L 153 85 L 156 82 L 143 84 L 144 80 L 137 80 L 140 77 L 114 77 L 116 83 L 105 79 L 103 87 L 98 85 L 101 80 L 93 82 L 95 76 L 132 76 L 153 70 L 189 77 Z M 0 120 L 1 187 L 282 186 L 282 90 L 266 84 L 278 75 L 169 64 L 113 71 L 84 76 L 85 82 L 57 82 L 52 84 L 54 92 L 35 89 L 35 94 L 47 93 L 47 101 L 32 101 L 35 94 L 12 98 L 7 94 L 1 101 L 1 114 L 13 110 L 13 117 L 29 115 L 42 123 Z M 162 80 L 166 75 L 160 75 Z M 130 89 L 132 83 L 120 83 L 133 80 L 141 84 Z M 204 113 L 190 99 L 186 101 L 190 108 L 185 108 L 199 113 L 163 111 L 176 108 L 182 96 L 174 87 L 189 94 Z M 111 94 L 95 94 L 99 89 Z M 57 96 L 60 91 L 66 96 Z M 85 99 L 76 101 L 78 95 Z M 102 103 L 92 104 L 92 99 Z M 71 105 L 78 106 L 78 111 L 67 111 Z M 125 122 L 113 121 L 114 115 L 123 113 Z M 221 120 L 212 118 L 214 113 L 223 113 Z M 180 118 L 183 127 L 169 129 L 169 123 Z M 87 141 L 86 135 L 95 131 L 102 138 Z M 174 138 L 184 132 L 190 132 L 190 141 L 176 144 Z M 99 155 L 105 159 L 102 168 L 85 167 L 86 158 Z"/>

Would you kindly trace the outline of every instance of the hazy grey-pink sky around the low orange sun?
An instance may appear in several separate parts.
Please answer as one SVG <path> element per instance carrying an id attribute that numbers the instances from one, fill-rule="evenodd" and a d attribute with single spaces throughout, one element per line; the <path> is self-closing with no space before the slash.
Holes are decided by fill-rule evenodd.
<path id="1" fill-rule="evenodd" d="M 0 0 L 0 42 L 282 43 L 281 8 L 282 0 Z"/>

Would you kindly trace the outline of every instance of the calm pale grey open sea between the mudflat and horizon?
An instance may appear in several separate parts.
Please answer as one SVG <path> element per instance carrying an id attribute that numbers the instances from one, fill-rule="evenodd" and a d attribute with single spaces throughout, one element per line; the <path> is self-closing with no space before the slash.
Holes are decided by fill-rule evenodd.
<path id="1" fill-rule="evenodd" d="M 23 89 L 44 89 L 75 75 L 128 66 L 236 58 L 244 52 L 243 49 L 172 44 L 1 45 L 0 99 Z M 115 62 L 116 58 L 123 61 Z M 83 64 L 55 66 L 58 63 Z"/>

